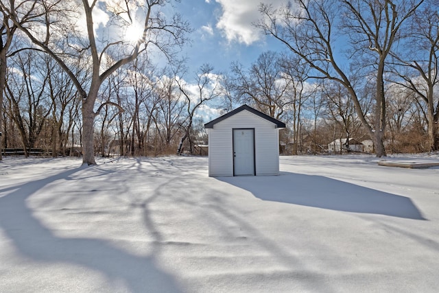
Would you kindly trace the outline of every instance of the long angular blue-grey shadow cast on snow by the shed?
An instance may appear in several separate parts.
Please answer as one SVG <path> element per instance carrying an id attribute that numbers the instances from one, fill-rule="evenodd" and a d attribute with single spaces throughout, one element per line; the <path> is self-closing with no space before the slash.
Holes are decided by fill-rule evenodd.
<path id="1" fill-rule="evenodd" d="M 281 172 L 280 176 L 239 176 L 217 179 L 246 189 L 261 200 L 335 211 L 375 213 L 426 220 L 410 198 L 324 176 Z"/>

